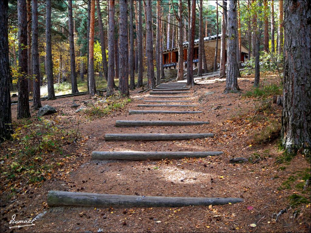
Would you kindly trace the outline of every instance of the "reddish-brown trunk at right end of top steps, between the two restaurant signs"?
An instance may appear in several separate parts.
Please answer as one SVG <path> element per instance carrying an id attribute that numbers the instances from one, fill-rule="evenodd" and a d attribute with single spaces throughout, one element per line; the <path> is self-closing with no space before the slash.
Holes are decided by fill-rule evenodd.
<path id="1" fill-rule="evenodd" d="M 188 2 L 189 3 L 189 2 Z M 188 61 L 187 62 L 187 85 L 194 86 L 193 79 L 193 49 L 194 49 L 194 34 L 195 34 L 195 12 L 196 1 L 191 1 L 191 21 L 190 21 L 190 32 L 189 32 L 189 49 L 188 49 Z M 188 75 L 189 73 L 189 75 Z"/>

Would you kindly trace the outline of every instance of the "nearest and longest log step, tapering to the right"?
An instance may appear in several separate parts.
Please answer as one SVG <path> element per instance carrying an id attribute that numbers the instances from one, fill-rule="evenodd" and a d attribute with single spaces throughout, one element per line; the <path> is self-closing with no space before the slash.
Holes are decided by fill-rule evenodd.
<path id="1" fill-rule="evenodd" d="M 136 196 L 114 195 L 97 193 L 80 193 L 66 191 L 49 191 L 49 207 L 57 206 L 83 206 L 83 207 L 182 207 L 191 205 L 225 205 L 229 203 L 243 202 L 242 198 L 218 198 L 218 197 L 161 197 L 161 196 Z"/>

